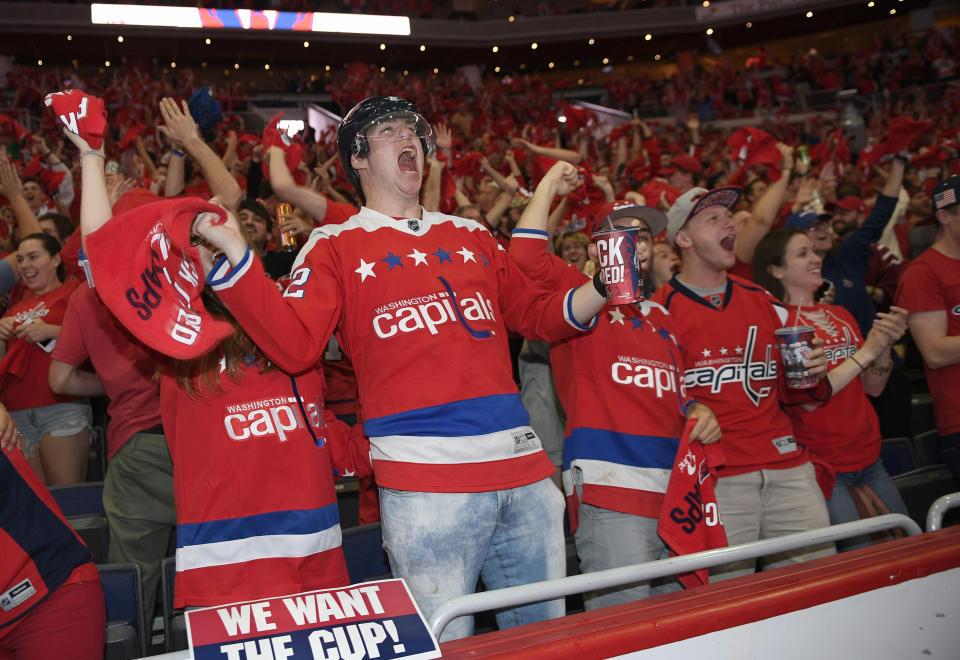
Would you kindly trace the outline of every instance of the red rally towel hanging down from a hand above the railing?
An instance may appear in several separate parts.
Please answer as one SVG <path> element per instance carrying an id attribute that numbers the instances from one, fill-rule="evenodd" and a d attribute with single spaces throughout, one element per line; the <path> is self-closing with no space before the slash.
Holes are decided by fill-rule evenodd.
<path id="1" fill-rule="evenodd" d="M 727 535 L 713 492 L 717 477 L 711 471 L 711 468 L 724 464 L 723 452 L 716 443 L 690 442 L 690 431 L 696 423 L 696 418 L 688 419 L 683 429 L 657 522 L 657 533 L 670 548 L 671 555 L 688 555 L 727 546 Z M 707 584 L 709 574 L 709 570 L 703 568 L 678 575 L 677 579 L 689 589 Z"/>

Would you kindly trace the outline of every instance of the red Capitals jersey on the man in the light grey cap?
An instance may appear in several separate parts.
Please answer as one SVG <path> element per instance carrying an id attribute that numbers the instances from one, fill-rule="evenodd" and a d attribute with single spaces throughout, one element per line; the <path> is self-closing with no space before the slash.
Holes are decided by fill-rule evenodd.
<path id="1" fill-rule="evenodd" d="M 720 423 L 726 464 L 717 475 L 803 463 L 806 452 L 779 402 L 780 356 L 773 333 L 787 317 L 784 306 L 736 275 L 727 276 L 718 305 L 676 277 L 653 300 L 676 319 L 690 397 L 710 406 Z"/>

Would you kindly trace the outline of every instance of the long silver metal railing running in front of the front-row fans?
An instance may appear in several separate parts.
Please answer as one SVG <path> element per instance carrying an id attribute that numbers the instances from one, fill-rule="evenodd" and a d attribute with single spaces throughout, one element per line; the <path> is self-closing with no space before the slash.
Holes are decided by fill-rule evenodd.
<path id="1" fill-rule="evenodd" d="M 676 575 L 677 573 L 688 573 L 702 568 L 721 566 L 744 559 L 756 559 L 778 552 L 796 550 L 821 543 L 832 543 L 854 536 L 862 536 L 894 528 L 903 530 L 907 536 L 915 536 L 923 533 L 920 526 L 907 516 L 901 513 L 888 513 L 866 520 L 855 520 L 853 522 L 841 523 L 821 529 L 812 529 L 806 532 L 798 532 L 797 534 L 779 536 L 773 539 L 762 539 L 760 541 L 752 541 L 750 543 L 743 543 L 726 548 L 697 552 L 691 555 L 681 555 L 679 557 L 671 557 L 669 559 L 661 559 L 644 564 L 610 568 L 604 571 L 573 575 L 556 580 L 534 582 L 518 587 L 507 587 L 494 591 L 457 596 L 441 605 L 437 611 L 433 613 L 433 616 L 430 617 L 428 625 L 433 631 L 434 636 L 439 639 L 443 629 L 447 627 L 447 624 L 459 616 L 500 608 L 516 607 L 518 605 L 537 603 L 544 600 L 553 600 L 572 594 L 618 587 L 630 584 L 631 582 L 652 580 L 654 578 Z"/>

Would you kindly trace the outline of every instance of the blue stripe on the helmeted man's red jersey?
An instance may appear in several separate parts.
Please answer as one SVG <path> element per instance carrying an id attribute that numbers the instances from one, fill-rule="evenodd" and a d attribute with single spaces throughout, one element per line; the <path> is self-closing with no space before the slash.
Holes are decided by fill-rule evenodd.
<path id="1" fill-rule="evenodd" d="M 374 438 L 387 435 L 457 437 L 486 435 L 529 424 L 530 416 L 519 394 L 493 394 L 365 419 L 363 431 Z"/>

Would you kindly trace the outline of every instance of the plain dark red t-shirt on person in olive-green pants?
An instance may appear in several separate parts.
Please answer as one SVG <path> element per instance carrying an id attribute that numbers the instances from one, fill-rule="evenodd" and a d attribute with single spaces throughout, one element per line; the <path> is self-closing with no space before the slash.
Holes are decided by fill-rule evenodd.
<path id="1" fill-rule="evenodd" d="M 83 285 L 71 296 L 52 358 L 79 367 L 89 359 L 110 398 L 107 457 L 137 431 L 160 423 L 160 383 L 154 360 Z"/>

